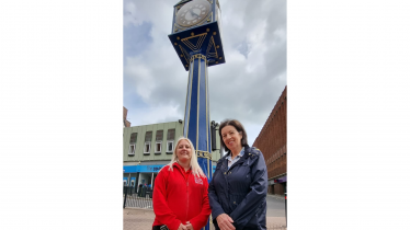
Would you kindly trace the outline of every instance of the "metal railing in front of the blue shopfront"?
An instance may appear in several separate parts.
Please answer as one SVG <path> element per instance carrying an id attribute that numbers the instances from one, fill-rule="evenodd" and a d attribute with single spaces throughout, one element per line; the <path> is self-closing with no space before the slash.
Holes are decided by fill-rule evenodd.
<path id="1" fill-rule="evenodd" d="M 152 209 L 152 193 L 150 187 L 124 186 L 123 199 L 125 207 Z"/>

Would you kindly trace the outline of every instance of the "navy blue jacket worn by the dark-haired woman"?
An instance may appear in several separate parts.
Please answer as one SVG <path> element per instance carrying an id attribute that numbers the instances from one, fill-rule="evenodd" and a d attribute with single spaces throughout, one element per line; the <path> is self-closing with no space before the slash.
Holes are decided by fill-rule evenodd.
<path id="1" fill-rule="evenodd" d="M 228 170 L 228 152 L 219 159 L 209 183 L 208 197 L 215 229 L 216 217 L 227 214 L 237 230 L 266 229 L 267 171 L 259 149 L 244 154 Z"/>

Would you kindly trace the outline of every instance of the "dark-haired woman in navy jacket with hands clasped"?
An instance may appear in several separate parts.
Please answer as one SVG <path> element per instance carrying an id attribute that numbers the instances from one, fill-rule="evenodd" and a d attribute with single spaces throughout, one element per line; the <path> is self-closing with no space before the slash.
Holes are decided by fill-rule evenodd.
<path id="1" fill-rule="evenodd" d="M 263 154 L 248 146 L 238 120 L 219 126 L 221 146 L 228 149 L 217 163 L 208 188 L 215 229 L 266 229 L 267 171 Z"/>

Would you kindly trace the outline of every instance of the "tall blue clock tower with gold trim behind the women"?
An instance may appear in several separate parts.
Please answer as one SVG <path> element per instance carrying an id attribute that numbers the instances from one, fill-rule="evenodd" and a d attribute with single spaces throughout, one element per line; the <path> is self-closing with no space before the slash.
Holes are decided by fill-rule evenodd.
<path id="1" fill-rule="evenodd" d="M 208 67 L 225 64 L 218 0 L 182 0 L 174 5 L 168 35 L 189 71 L 183 136 L 194 145 L 198 163 L 212 180 Z M 209 229 L 209 222 L 204 228 Z"/>

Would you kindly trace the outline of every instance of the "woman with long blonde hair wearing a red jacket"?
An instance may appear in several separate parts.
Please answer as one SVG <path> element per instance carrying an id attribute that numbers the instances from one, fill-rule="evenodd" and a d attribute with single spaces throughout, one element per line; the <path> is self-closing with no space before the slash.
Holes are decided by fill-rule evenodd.
<path id="1" fill-rule="evenodd" d="M 152 230 L 200 230 L 210 215 L 208 180 L 197 163 L 194 146 L 181 137 L 172 160 L 158 173 L 153 189 Z M 161 228 L 162 227 L 162 228 Z"/>

